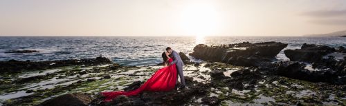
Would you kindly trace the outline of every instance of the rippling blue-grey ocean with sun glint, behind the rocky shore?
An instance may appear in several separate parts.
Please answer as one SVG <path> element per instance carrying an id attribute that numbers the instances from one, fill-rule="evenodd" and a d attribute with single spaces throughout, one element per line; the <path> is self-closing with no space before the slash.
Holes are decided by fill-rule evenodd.
<path id="1" fill-rule="evenodd" d="M 156 65 L 162 62 L 166 47 L 189 54 L 193 47 L 203 43 L 220 45 L 230 43 L 277 41 L 288 43 L 286 49 L 299 49 L 303 43 L 346 47 L 346 37 L 314 36 L 1 36 L 0 61 L 52 61 L 63 59 L 90 59 L 104 56 L 120 65 Z M 38 50 L 34 53 L 5 53 L 9 50 Z M 200 61 L 193 59 L 193 61 Z M 280 52 L 277 61 L 289 61 Z"/>

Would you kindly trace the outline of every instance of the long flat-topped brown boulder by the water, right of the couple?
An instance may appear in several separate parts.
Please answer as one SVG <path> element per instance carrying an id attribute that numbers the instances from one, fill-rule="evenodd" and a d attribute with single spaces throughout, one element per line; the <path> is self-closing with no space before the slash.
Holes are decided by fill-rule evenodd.
<path id="1" fill-rule="evenodd" d="M 194 47 L 194 52 L 190 55 L 204 61 L 258 67 L 270 63 L 286 46 L 287 44 L 278 42 L 244 42 L 217 46 L 199 44 Z"/>

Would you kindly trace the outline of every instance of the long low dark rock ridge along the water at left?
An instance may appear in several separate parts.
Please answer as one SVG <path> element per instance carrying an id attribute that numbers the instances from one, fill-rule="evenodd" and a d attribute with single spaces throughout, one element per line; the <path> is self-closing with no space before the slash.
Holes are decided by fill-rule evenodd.
<path id="1" fill-rule="evenodd" d="M 71 65 L 100 65 L 112 63 L 109 59 L 104 57 L 97 57 L 96 59 L 70 59 L 60 61 L 0 61 L 0 73 L 3 72 L 20 72 L 22 70 L 45 70 L 53 67 L 64 67 Z"/>

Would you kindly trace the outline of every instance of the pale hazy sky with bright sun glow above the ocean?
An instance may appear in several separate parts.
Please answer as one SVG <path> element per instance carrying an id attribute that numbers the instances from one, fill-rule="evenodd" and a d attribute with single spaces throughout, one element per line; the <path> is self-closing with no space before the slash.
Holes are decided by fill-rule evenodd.
<path id="1" fill-rule="evenodd" d="M 300 36 L 346 30 L 344 0 L 0 0 L 0 36 Z"/>

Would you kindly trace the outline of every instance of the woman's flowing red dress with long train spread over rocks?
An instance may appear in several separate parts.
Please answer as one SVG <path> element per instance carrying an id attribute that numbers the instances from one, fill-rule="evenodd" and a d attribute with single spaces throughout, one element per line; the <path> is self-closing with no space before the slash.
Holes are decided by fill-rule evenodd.
<path id="1" fill-rule="evenodd" d="M 173 61 L 173 59 L 168 60 L 169 63 Z M 176 84 L 176 65 L 169 65 L 167 67 L 163 67 L 155 72 L 152 77 L 150 77 L 147 82 L 141 85 L 138 89 L 133 91 L 125 92 L 102 92 L 102 95 L 106 97 L 105 101 L 111 101 L 116 96 L 126 95 L 126 96 L 134 96 L 143 91 L 150 92 L 167 92 L 174 89 Z"/>

